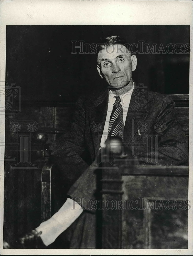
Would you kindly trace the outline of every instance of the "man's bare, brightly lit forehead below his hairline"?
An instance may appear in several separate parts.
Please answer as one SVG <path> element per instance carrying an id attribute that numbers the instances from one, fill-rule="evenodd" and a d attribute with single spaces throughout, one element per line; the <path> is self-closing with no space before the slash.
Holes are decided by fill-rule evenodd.
<path id="1" fill-rule="evenodd" d="M 127 48 L 124 45 L 116 44 L 116 45 L 110 45 L 106 47 L 105 49 L 100 50 L 98 56 L 99 58 L 112 58 L 119 55 L 127 55 L 129 54 Z"/>

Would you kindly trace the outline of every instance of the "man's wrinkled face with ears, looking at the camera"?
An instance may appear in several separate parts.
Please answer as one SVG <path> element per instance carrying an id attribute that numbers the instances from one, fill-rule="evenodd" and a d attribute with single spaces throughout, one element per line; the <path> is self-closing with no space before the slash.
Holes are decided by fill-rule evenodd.
<path id="1" fill-rule="evenodd" d="M 125 46 L 117 44 L 102 49 L 98 60 L 98 72 L 111 87 L 122 88 L 128 84 L 132 85 L 132 71 L 136 68 L 137 59 L 135 55 L 131 57 Z"/>

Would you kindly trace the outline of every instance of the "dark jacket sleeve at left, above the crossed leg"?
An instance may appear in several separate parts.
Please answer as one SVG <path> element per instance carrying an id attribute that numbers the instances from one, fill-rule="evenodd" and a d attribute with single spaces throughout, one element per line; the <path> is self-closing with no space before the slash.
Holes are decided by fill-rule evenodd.
<path id="1" fill-rule="evenodd" d="M 68 187 L 72 185 L 82 172 L 88 168 L 83 160 L 85 154 L 84 129 L 85 110 L 84 99 L 76 104 L 70 132 L 63 134 L 53 144 L 52 162 L 56 165 L 59 177 Z"/>

